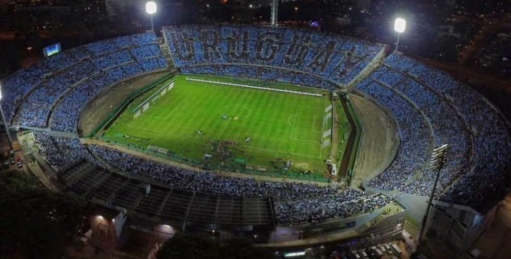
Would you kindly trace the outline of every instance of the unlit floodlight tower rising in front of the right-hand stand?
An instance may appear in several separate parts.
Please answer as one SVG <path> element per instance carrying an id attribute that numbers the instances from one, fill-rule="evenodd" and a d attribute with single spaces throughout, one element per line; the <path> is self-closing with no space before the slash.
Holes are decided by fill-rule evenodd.
<path id="1" fill-rule="evenodd" d="M 431 202 L 433 201 L 433 197 L 435 196 L 436 184 L 438 183 L 438 178 L 440 177 L 440 170 L 444 166 L 447 159 L 447 152 L 449 151 L 449 145 L 444 144 L 439 146 L 433 150 L 431 154 L 431 160 L 429 162 L 429 170 L 436 173 L 435 182 L 433 184 L 433 188 L 431 189 L 431 193 L 429 194 L 428 208 L 426 209 L 426 215 L 422 219 L 421 229 L 419 230 L 419 237 L 417 238 L 417 247 L 421 244 L 422 236 L 424 235 L 424 230 L 426 228 L 426 222 L 428 222 L 429 210 L 431 209 Z"/>

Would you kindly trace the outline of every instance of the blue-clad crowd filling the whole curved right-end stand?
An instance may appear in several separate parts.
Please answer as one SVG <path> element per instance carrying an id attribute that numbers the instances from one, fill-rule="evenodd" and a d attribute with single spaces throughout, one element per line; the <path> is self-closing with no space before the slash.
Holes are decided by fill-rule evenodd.
<path id="1" fill-rule="evenodd" d="M 395 53 L 357 88 L 375 98 L 398 122 L 402 144 L 389 169 L 396 164 L 403 165 L 402 152 L 413 157 L 416 165 L 430 156 L 421 145 L 407 148 L 409 138 L 402 133 L 414 124 L 400 121 L 410 121 L 419 115 L 413 112 L 416 116 L 410 117 L 410 114 L 391 107 L 408 101 L 409 106 L 424 114 L 431 124 L 431 143 L 435 147 L 450 146 L 447 163 L 440 171 L 437 199 L 484 210 L 505 193 L 511 182 L 508 173 L 511 169 L 510 126 L 503 115 L 476 91 L 442 71 Z M 382 97 L 385 93 L 390 95 L 390 91 L 395 92 L 394 99 L 400 100 L 388 101 Z M 412 107 L 408 109 L 413 110 Z M 409 174 L 412 177 L 403 178 L 402 172 L 389 174 L 389 169 L 371 180 L 368 186 L 416 195 L 428 195 L 431 190 L 434 172 L 417 170 L 415 174 Z"/>

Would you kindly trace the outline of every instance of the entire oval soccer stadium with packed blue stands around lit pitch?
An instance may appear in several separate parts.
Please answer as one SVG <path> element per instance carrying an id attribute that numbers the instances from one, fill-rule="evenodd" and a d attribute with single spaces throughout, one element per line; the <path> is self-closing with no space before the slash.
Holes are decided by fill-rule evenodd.
<path id="1" fill-rule="evenodd" d="M 295 252 L 386 242 L 429 213 L 426 231 L 467 249 L 510 183 L 490 101 L 336 34 L 168 26 L 44 58 L 2 93 L 30 168 L 114 231 L 128 217 Z"/>

